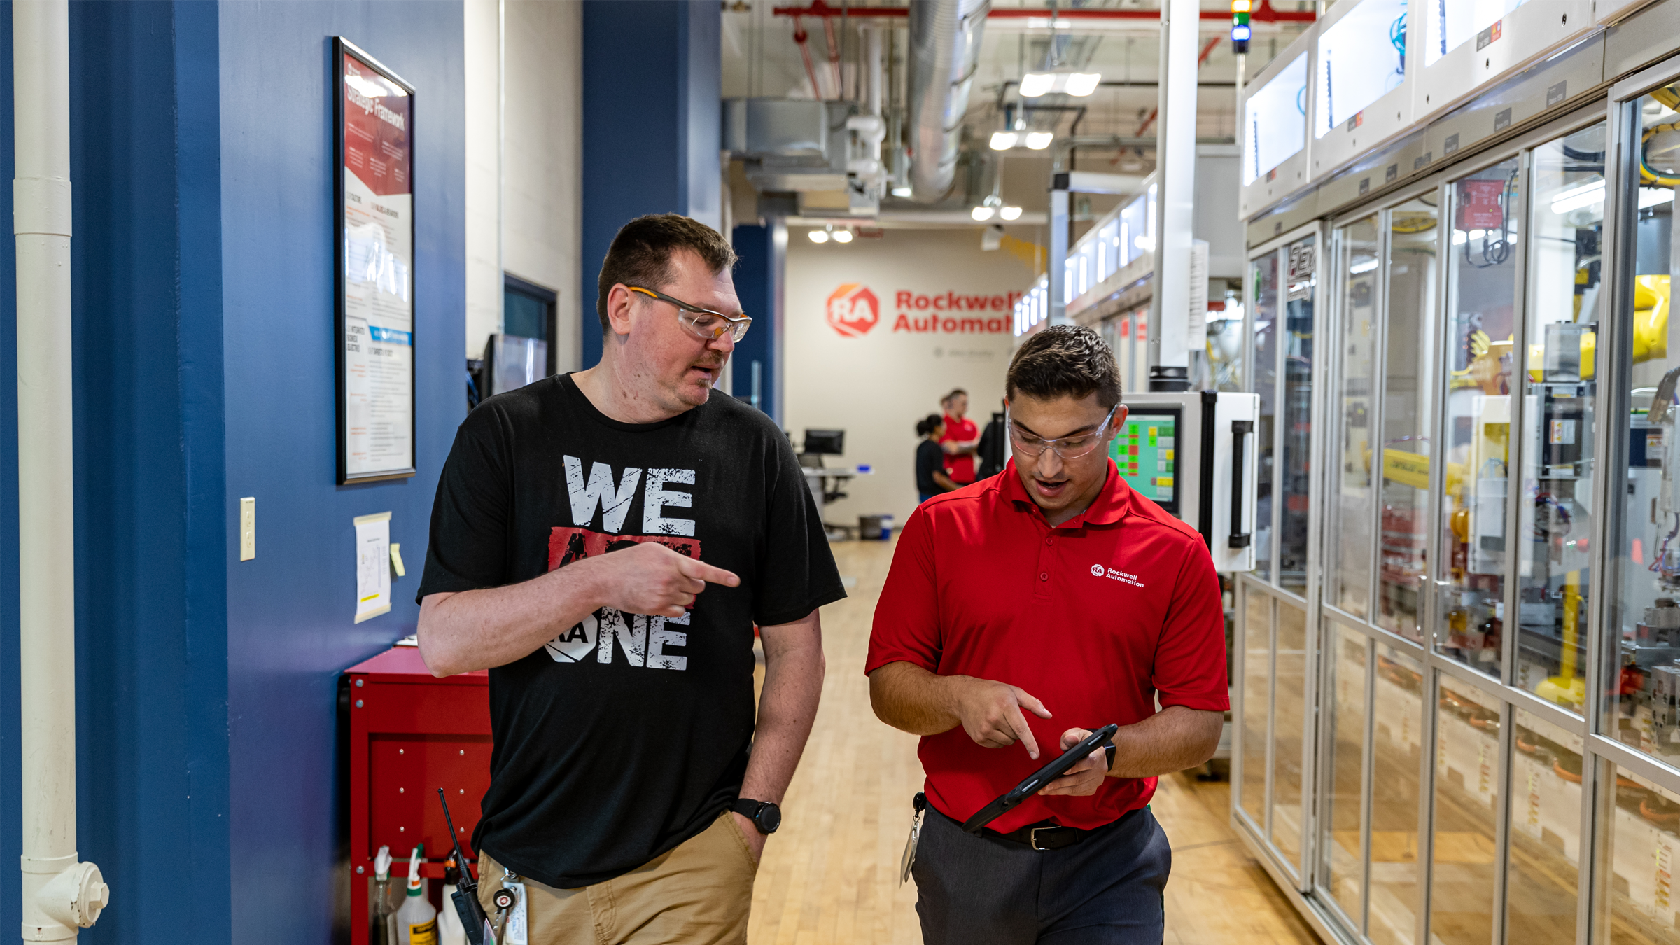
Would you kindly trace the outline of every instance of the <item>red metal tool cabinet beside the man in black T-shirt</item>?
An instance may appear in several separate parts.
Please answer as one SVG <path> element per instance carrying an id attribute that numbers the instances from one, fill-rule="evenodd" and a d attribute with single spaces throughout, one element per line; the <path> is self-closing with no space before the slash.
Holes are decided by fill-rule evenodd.
<path id="1" fill-rule="evenodd" d="M 489 673 L 437 679 L 412 646 L 391 647 L 344 671 L 349 684 L 349 942 L 368 945 L 373 854 L 391 847 L 391 881 L 408 878 L 408 854 L 425 842 L 422 876 L 440 879 L 450 856 L 437 789 L 449 797 L 460 846 L 479 826 L 491 787 Z M 470 864 L 477 873 L 477 863 Z M 442 883 L 432 884 L 433 891 Z M 444 908 L 450 908 L 444 905 Z"/>

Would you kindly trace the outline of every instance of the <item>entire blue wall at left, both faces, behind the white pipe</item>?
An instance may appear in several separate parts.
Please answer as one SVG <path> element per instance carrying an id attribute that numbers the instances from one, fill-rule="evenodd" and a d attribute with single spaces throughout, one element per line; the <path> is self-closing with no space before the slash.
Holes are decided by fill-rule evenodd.
<path id="1" fill-rule="evenodd" d="M 465 412 L 462 7 L 74 0 L 71 24 L 79 846 L 114 896 L 86 940 L 331 942 L 348 920 L 338 673 L 418 612 L 410 572 L 390 615 L 351 622 L 351 518 L 391 511 L 391 540 L 422 562 Z M 334 34 L 418 87 L 420 476 L 349 488 L 334 484 Z M 13 414 L 0 412 L 10 627 Z M 257 498 L 254 562 L 237 562 L 240 496 Z M 15 693 L 17 651 L 0 647 L 0 810 L 17 810 Z M 0 816 L 0 849 L 17 831 Z M 15 881 L 0 910 L 17 918 Z"/>

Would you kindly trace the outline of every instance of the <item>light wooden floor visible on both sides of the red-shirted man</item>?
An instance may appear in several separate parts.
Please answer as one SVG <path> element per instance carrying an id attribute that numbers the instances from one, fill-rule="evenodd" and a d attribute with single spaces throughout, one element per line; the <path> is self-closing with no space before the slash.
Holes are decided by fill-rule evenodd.
<path id="1" fill-rule="evenodd" d="M 753 945 L 916 943 L 916 884 L 899 856 L 921 789 L 916 738 L 869 708 L 864 656 L 892 545 L 833 545 L 850 597 L 823 609 L 828 681 L 816 728 L 788 789 L 788 817 L 764 847 L 753 891 Z M 1315 943 L 1228 821 L 1230 785 L 1161 779 L 1154 816 L 1173 841 L 1168 945 Z"/>

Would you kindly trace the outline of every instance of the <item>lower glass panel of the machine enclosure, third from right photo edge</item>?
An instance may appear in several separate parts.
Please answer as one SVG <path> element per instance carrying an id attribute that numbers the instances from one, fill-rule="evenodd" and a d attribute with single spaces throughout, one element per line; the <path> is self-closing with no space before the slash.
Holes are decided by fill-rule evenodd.
<path id="1" fill-rule="evenodd" d="M 1499 700 L 1443 674 L 1435 725 L 1430 938 L 1487 945 L 1499 873 Z"/>

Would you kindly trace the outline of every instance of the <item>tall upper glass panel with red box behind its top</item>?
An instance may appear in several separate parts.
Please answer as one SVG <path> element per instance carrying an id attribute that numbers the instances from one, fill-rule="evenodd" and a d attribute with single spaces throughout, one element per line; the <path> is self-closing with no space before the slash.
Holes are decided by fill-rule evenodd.
<path id="1" fill-rule="evenodd" d="M 1517 158 L 1448 185 L 1453 230 L 1445 338 L 1441 582 L 1435 646 L 1499 676 L 1515 343 Z"/>

